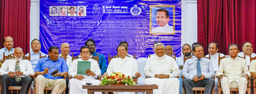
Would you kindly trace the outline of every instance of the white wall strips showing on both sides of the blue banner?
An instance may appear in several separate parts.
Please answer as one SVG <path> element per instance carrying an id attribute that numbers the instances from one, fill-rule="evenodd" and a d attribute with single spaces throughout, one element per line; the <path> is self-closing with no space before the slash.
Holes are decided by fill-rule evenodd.
<path id="1" fill-rule="evenodd" d="M 39 39 L 40 0 L 31 0 L 30 8 L 30 43 Z M 181 46 L 197 42 L 197 0 L 183 0 L 181 21 Z M 30 51 L 31 48 L 30 48 Z"/>

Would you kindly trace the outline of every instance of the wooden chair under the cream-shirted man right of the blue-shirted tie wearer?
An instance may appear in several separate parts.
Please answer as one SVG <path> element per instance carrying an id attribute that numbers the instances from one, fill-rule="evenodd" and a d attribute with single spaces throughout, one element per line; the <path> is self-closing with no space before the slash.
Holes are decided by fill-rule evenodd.
<path id="1" fill-rule="evenodd" d="M 239 56 L 240 57 L 240 56 Z M 220 66 L 220 61 L 221 61 L 221 59 L 223 59 L 223 58 L 226 58 L 225 56 L 223 56 L 223 57 L 220 57 L 220 53 L 219 53 L 219 55 L 218 55 L 218 66 Z M 240 58 L 243 58 L 243 57 L 240 57 Z M 244 55 L 244 58 L 245 58 L 245 55 Z M 221 88 L 221 80 L 220 80 L 220 76 L 217 76 L 218 77 L 218 94 L 221 94 L 221 91 L 222 91 L 222 88 Z M 251 77 L 249 77 L 249 80 L 248 80 L 248 86 L 247 86 L 247 94 L 250 94 L 250 92 L 251 92 L 251 82 L 250 82 L 250 78 Z M 238 90 L 238 88 L 230 88 L 230 92 L 231 92 L 231 94 L 233 93 L 233 91 L 235 91 L 236 92 L 236 94 L 238 94 L 238 92 L 239 92 L 239 90 Z"/>

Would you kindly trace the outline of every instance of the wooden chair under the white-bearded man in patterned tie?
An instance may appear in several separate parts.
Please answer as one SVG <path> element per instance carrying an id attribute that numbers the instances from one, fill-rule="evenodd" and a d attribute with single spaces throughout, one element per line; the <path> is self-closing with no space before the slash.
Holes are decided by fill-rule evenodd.
<path id="1" fill-rule="evenodd" d="M 8 59 L 15 59 L 14 58 L 14 53 L 8 55 L 8 56 L 5 56 L 5 53 L 3 53 L 3 61 L 5 60 L 8 60 Z M 22 59 L 26 59 L 26 60 L 29 60 L 30 61 L 30 53 L 29 53 L 29 56 L 25 56 L 24 53 L 23 53 L 23 57 Z M 31 78 L 33 78 L 33 75 L 29 75 Z M 1 82 L 1 75 L 0 75 L 0 82 Z M 19 92 L 19 90 L 21 89 L 21 86 L 9 86 L 8 90 L 11 90 L 11 94 L 12 93 L 17 93 Z M 1 84 L 0 84 L 0 91 L 1 91 Z M 29 88 L 29 91 L 28 91 L 28 94 L 31 94 L 31 88 Z M 1 94 L 1 93 L 0 93 Z"/>

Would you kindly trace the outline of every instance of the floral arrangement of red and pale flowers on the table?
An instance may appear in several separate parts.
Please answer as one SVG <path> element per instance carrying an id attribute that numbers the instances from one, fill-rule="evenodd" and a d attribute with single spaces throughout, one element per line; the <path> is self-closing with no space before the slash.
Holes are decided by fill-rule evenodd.
<path id="1" fill-rule="evenodd" d="M 113 84 L 135 85 L 134 80 L 130 76 L 127 77 L 124 74 L 117 72 L 117 73 L 113 73 L 111 75 L 105 76 L 100 81 L 99 85 L 113 85 Z"/>

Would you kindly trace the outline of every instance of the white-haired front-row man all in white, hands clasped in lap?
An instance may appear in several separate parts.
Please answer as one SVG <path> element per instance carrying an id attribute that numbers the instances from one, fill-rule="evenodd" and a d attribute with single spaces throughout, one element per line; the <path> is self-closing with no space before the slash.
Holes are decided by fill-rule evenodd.
<path id="1" fill-rule="evenodd" d="M 145 76 L 150 77 L 145 80 L 145 84 L 157 84 L 158 89 L 154 89 L 154 94 L 179 94 L 180 82 L 177 76 L 180 69 L 174 58 L 164 55 L 165 46 L 157 43 L 154 46 L 155 56 L 148 58 L 145 65 Z"/>

